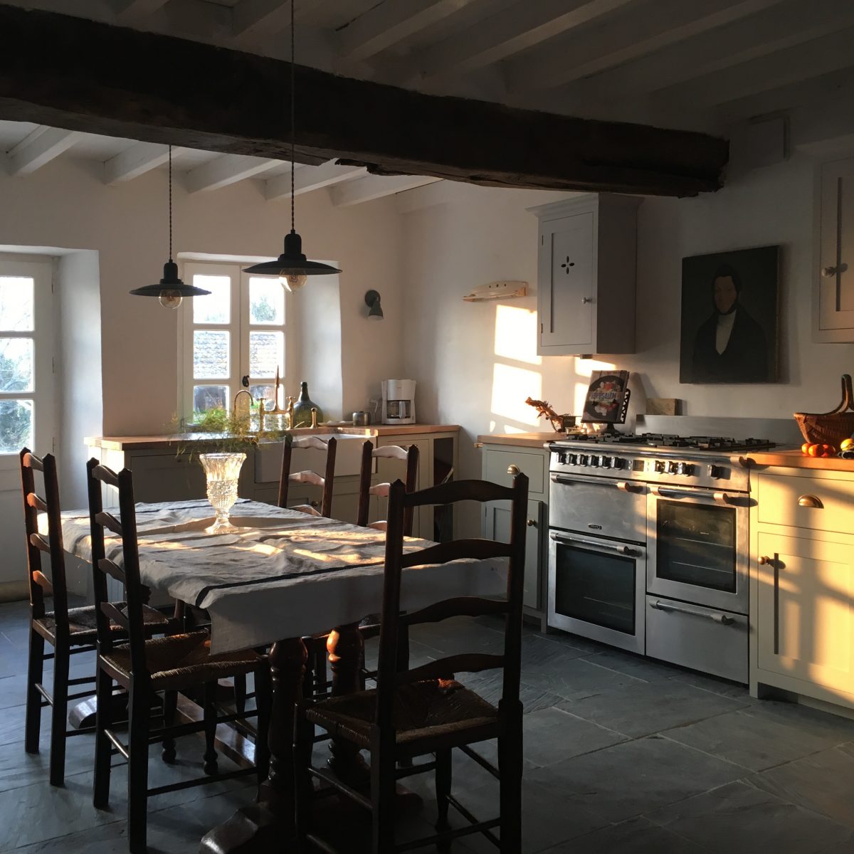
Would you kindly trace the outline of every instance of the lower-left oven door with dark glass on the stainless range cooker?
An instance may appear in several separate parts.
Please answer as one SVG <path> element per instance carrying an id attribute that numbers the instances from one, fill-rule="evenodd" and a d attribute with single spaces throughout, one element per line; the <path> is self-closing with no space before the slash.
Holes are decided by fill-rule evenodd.
<path id="1" fill-rule="evenodd" d="M 646 548 L 549 531 L 548 624 L 644 652 Z"/>

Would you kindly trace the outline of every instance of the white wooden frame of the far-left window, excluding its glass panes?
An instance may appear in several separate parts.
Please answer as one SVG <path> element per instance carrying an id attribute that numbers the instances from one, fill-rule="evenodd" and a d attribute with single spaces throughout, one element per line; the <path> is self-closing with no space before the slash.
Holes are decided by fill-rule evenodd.
<path id="1" fill-rule="evenodd" d="M 0 400 L 32 400 L 32 453 L 56 452 L 54 261 L 41 255 L 0 254 L 0 276 L 32 278 L 33 329 L 0 330 L 3 338 L 32 338 L 32 391 L 0 391 Z M 18 452 L 0 451 L 0 471 L 17 471 Z"/>

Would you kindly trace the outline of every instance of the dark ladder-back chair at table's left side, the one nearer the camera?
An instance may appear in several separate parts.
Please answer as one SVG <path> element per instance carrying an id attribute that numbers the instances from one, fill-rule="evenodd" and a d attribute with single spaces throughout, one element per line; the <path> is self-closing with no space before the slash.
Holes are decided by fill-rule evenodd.
<path id="1" fill-rule="evenodd" d="M 112 748 L 127 759 L 128 843 L 132 854 L 146 851 L 146 816 L 148 798 L 155 794 L 176 792 L 188 786 L 229 780 L 257 774 L 266 778 L 269 763 L 266 734 L 269 728 L 271 687 L 266 656 L 252 650 L 210 654 L 207 632 L 146 639 L 143 632 L 143 585 L 139 576 L 137 519 L 133 500 L 131 472 L 118 474 L 97 459 L 86 464 L 89 490 L 89 512 L 92 539 L 92 563 L 95 566 L 95 603 L 97 608 L 97 722 L 95 739 L 94 804 L 105 809 L 109 800 L 110 755 Z M 119 490 L 120 518 L 104 512 L 102 484 Z M 122 565 L 108 559 L 105 553 L 104 529 L 121 538 Z M 127 606 L 119 610 L 107 601 L 107 576 L 125 585 Z M 126 643 L 116 643 L 108 630 L 108 621 L 120 623 L 126 629 Z M 214 705 L 217 681 L 228 676 L 254 673 L 257 711 L 219 715 Z M 116 681 L 128 693 L 127 742 L 113 728 L 109 698 Z M 203 688 L 204 719 L 199 722 L 174 724 L 178 693 Z M 162 726 L 151 728 L 151 694 L 163 693 Z M 219 774 L 214 749 L 219 723 L 245 720 L 257 715 L 255 738 L 255 767 Z M 204 731 L 206 751 L 205 776 L 192 781 L 178 781 L 166 786 L 149 788 L 149 743 L 163 743 L 164 758 L 174 759 L 174 740 L 177 735 Z"/>

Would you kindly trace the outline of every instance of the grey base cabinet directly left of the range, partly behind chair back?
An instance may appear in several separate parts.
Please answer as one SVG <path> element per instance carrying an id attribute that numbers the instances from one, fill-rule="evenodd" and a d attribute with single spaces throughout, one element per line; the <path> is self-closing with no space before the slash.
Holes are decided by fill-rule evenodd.
<path id="1" fill-rule="evenodd" d="M 528 476 L 528 518 L 525 535 L 524 610 L 537 617 L 545 628 L 548 575 L 548 451 L 531 443 L 519 446 L 483 443 L 483 479 L 510 486 L 517 471 Z M 483 506 L 481 535 L 495 540 L 510 536 L 509 502 L 494 501 Z"/>

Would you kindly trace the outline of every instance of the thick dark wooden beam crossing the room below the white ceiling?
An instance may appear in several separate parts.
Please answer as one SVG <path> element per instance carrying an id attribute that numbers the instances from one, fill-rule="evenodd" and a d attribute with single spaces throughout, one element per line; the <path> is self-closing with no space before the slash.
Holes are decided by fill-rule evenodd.
<path id="1" fill-rule="evenodd" d="M 0 4 L 0 118 L 287 158 L 290 66 Z M 436 97 L 299 66 L 297 161 L 507 187 L 691 196 L 728 143 L 705 134 Z"/>

